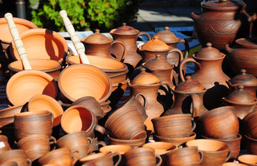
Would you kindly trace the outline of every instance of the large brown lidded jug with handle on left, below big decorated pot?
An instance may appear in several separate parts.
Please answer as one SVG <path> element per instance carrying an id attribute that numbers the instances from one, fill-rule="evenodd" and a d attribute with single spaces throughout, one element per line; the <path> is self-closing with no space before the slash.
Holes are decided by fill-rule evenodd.
<path id="1" fill-rule="evenodd" d="M 226 80 L 230 80 L 230 78 L 222 71 L 222 61 L 226 55 L 208 43 L 192 57 L 183 59 L 179 67 L 179 74 L 183 75 L 181 66 L 185 63 L 194 62 L 197 64 L 191 77 L 207 89 L 204 93 L 204 107 L 208 110 L 219 107 L 222 98 L 229 95 L 229 86 L 226 84 Z M 181 79 L 184 81 L 183 77 Z"/>

